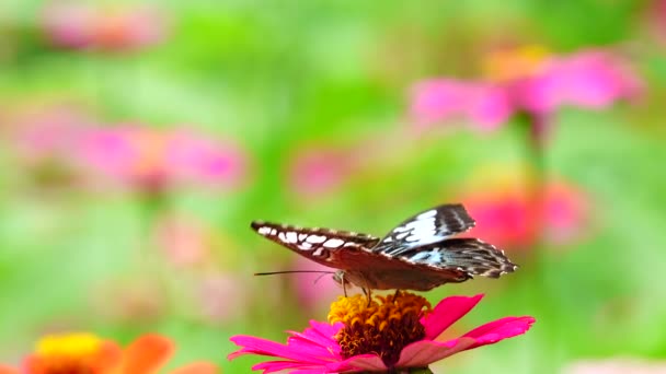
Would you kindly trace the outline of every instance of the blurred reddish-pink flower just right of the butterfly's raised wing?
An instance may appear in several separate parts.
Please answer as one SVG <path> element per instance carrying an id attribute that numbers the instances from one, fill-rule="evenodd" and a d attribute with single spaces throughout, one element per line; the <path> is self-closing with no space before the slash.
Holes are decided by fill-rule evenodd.
<path id="1" fill-rule="evenodd" d="M 490 183 L 494 189 L 471 189 L 459 197 L 476 221 L 470 235 L 496 244 L 503 249 L 527 248 L 537 236 L 532 217 L 535 201 L 526 188 Z M 563 182 L 546 187 L 543 224 L 546 238 L 565 244 L 583 235 L 589 214 L 584 192 Z"/>

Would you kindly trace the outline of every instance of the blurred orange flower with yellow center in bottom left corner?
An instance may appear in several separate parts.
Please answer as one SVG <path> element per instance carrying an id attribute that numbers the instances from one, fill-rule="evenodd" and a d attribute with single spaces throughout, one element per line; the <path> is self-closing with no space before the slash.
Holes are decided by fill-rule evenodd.
<path id="1" fill-rule="evenodd" d="M 173 354 L 174 343 L 162 336 L 148 334 L 126 349 L 112 340 L 79 332 L 46 336 L 37 342 L 35 352 L 25 359 L 23 367 L 0 367 L 3 374 L 150 374 L 160 369 Z M 215 374 L 217 367 L 208 362 L 196 362 L 172 374 Z"/>

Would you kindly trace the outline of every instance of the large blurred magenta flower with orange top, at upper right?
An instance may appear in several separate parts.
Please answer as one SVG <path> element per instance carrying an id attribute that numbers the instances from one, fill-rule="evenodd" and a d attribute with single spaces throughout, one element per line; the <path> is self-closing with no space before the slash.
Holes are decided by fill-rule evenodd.
<path id="1" fill-rule="evenodd" d="M 525 56 L 495 59 L 487 80 L 441 78 L 413 89 L 411 112 L 421 128 L 462 116 L 482 130 L 492 130 L 512 115 L 543 119 L 560 106 L 601 108 L 639 94 L 639 78 L 616 56 L 584 50 L 546 57 L 533 48 Z M 497 68 L 497 66 L 500 66 Z"/>

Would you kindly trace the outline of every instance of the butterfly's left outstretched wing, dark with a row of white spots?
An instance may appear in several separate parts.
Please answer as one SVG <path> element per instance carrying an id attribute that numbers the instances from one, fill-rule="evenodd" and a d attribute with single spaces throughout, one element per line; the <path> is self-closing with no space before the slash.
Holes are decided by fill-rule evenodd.
<path id="1" fill-rule="evenodd" d="M 345 264 L 340 255 L 342 249 L 344 252 L 363 249 L 369 253 L 370 248 L 379 243 L 379 237 L 351 231 L 307 229 L 263 221 L 252 222 L 251 227 L 260 235 L 301 256 L 324 266 L 343 270 L 348 264 Z"/>

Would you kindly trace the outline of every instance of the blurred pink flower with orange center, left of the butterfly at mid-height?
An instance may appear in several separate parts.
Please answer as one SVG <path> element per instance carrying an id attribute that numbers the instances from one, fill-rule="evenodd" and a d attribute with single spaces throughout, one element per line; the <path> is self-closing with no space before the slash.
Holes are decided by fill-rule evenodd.
<path id="1" fill-rule="evenodd" d="M 100 172 L 145 192 L 181 185 L 236 187 L 245 172 L 245 155 L 229 142 L 188 130 L 158 130 L 138 125 L 90 131 L 83 159 Z"/>

